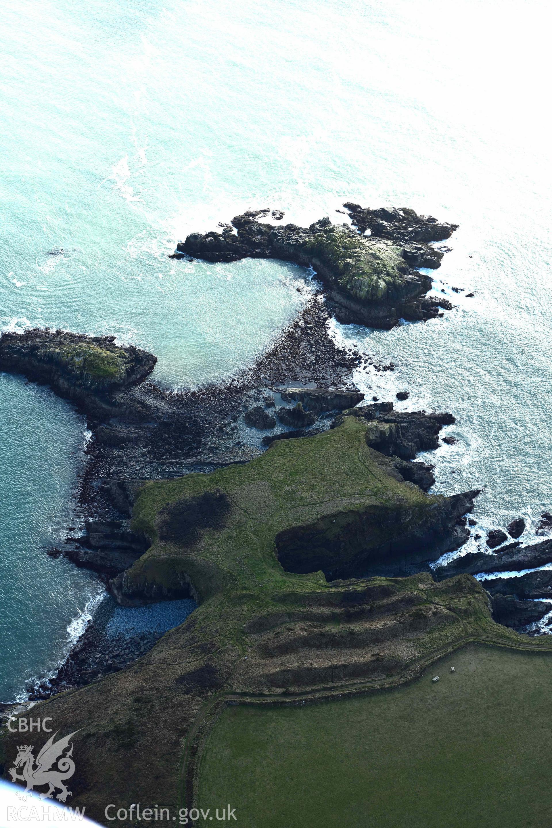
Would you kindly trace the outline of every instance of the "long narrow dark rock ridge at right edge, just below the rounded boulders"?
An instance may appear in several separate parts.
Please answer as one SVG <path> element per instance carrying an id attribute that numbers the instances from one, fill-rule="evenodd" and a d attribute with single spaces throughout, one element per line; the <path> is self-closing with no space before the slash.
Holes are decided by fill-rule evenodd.
<path id="1" fill-rule="evenodd" d="M 502 546 L 498 552 L 468 552 L 468 555 L 455 558 L 449 564 L 437 566 L 434 577 L 437 580 L 452 578 L 453 575 L 467 573 L 478 575 L 480 572 L 512 572 L 535 569 L 552 563 L 552 541 L 521 546 L 519 541 Z"/>

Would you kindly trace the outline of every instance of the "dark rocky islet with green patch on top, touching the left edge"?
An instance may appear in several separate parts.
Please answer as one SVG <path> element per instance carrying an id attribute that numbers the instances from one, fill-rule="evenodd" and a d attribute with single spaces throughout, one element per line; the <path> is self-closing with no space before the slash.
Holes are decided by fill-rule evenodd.
<path id="1" fill-rule="evenodd" d="M 142 381 L 157 358 L 133 345 L 114 344 L 114 336 L 85 336 L 34 328 L 0 337 L 0 370 L 22 373 L 46 383 L 60 397 L 89 407 Z"/>

